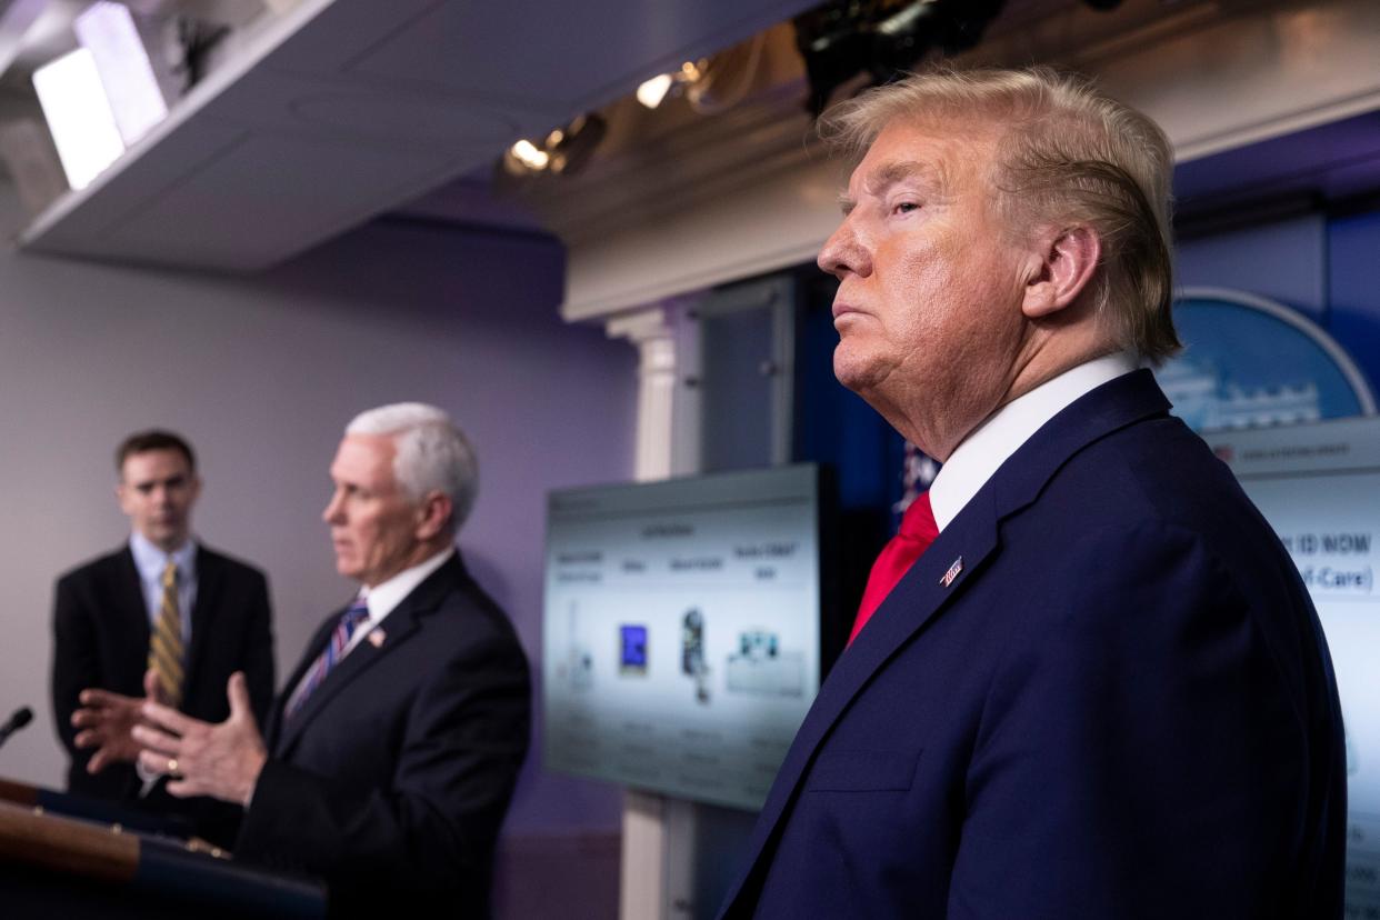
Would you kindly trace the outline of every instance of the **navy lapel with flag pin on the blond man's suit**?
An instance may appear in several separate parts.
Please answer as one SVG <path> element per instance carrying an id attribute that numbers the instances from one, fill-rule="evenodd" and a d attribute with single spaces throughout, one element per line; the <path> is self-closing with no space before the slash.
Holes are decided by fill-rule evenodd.
<path id="1" fill-rule="evenodd" d="M 901 646 L 959 599 L 967 583 L 981 578 L 984 564 L 999 548 L 1002 519 L 1034 502 L 1058 468 L 1079 450 L 1167 410 L 1169 400 L 1150 371 L 1136 371 L 1096 388 L 1031 436 L 944 528 L 882 601 L 820 688 L 762 807 L 749 844 L 753 855 L 748 873 L 740 877 L 727 903 L 737 899 L 752 873 L 765 872 L 759 865 L 763 854 L 774 847 L 784 826 L 782 814 L 795 800 L 829 730 Z"/>

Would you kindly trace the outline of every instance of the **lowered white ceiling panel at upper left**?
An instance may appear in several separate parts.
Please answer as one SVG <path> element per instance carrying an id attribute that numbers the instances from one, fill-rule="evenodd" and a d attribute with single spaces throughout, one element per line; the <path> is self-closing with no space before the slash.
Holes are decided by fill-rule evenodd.
<path id="1" fill-rule="evenodd" d="M 19 241 L 101 259 L 261 269 L 809 6 L 304 0 Z M 432 207 L 454 217 L 458 194 L 447 186 Z"/>

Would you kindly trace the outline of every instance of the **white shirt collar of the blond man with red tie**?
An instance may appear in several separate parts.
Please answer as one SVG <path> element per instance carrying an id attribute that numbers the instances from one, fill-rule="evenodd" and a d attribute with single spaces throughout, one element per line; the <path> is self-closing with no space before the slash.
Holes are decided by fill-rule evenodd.
<path id="1" fill-rule="evenodd" d="M 954 450 L 930 484 L 930 506 L 943 531 L 987 480 L 1070 403 L 1103 383 L 1130 374 L 1136 356 L 1118 352 L 1093 359 L 1045 381 L 994 412 Z"/>

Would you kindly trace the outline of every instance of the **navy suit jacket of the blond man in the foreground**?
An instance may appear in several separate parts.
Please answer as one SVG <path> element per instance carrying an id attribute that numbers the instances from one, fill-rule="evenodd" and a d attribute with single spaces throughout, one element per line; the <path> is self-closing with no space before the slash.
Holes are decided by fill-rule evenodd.
<path id="1" fill-rule="evenodd" d="M 1317 615 L 1167 408 L 1148 371 L 1097 388 L 944 530 L 821 688 L 723 916 L 1341 916 Z"/>

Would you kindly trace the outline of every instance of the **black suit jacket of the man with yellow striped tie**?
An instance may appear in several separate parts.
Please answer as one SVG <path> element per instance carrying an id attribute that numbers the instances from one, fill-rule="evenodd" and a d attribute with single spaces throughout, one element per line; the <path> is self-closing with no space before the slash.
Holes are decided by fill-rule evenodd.
<path id="1" fill-rule="evenodd" d="M 139 797 L 132 764 L 115 764 L 97 775 L 86 771 L 94 750 L 73 746 L 72 713 L 77 694 L 101 687 L 144 695 L 149 655 L 149 614 L 134 554 L 123 549 L 92 560 L 58 579 L 52 615 L 52 713 L 68 749 L 68 789 L 155 811 L 190 815 L 196 830 L 218 843 L 233 837 L 235 810 L 208 799 L 179 803 L 161 786 Z M 196 552 L 196 603 L 192 643 L 186 650 L 182 712 L 206 721 L 229 716 L 225 683 L 236 670 L 248 680 L 255 716 L 262 723 L 273 699 L 273 633 L 264 572 L 206 546 Z"/>

